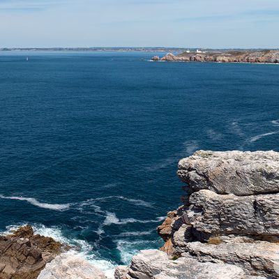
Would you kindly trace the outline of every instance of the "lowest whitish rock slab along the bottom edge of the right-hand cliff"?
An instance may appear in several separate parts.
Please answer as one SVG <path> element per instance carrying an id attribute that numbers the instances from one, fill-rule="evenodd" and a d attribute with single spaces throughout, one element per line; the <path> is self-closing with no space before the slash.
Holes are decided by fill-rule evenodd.
<path id="1" fill-rule="evenodd" d="M 124 273 L 123 273 L 124 271 Z M 126 274 L 125 274 L 126 271 Z M 118 274 L 121 276 L 119 277 Z M 125 276 L 125 277 L 123 277 Z M 116 279 L 243 279 L 241 268 L 230 264 L 199 262 L 191 257 L 170 259 L 165 252 L 142 250 L 132 259 L 128 270 L 116 269 Z"/>

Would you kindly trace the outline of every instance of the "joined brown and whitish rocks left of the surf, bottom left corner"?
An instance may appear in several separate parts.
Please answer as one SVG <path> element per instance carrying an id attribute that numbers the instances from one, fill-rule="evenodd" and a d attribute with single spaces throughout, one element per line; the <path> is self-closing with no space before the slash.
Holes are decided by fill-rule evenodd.
<path id="1" fill-rule="evenodd" d="M 34 234 L 30 225 L 20 227 L 0 236 L 0 279 L 105 279 L 74 250 L 51 237 Z"/>

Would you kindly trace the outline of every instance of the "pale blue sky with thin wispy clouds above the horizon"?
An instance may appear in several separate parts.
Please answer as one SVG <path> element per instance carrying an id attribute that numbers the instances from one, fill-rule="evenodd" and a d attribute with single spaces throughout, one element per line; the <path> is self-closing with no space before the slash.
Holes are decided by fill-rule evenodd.
<path id="1" fill-rule="evenodd" d="M 0 0 L 0 47 L 278 48 L 279 0 Z"/>

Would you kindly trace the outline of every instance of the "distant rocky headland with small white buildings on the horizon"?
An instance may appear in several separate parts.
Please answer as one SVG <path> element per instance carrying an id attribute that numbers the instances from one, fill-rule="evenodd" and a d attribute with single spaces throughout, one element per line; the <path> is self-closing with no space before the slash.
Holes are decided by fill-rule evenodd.
<path id="1" fill-rule="evenodd" d="M 219 63 L 279 63 L 279 50 L 230 50 L 230 51 L 200 51 L 190 50 L 174 55 L 168 53 L 160 58 L 153 56 L 153 61 L 178 62 L 219 62 Z"/>

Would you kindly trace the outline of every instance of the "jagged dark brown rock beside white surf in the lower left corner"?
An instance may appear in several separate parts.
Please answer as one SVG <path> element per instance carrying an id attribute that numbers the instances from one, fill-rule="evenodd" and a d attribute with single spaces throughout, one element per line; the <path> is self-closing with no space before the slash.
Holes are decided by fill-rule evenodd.
<path id="1" fill-rule="evenodd" d="M 45 236 L 33 234 L 30 226 L 25 226 L 11 235 L 0 236 L 0 278 L 37 278 L 45 264 L 60 252 L 61 243 Z"/>

